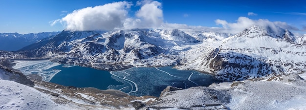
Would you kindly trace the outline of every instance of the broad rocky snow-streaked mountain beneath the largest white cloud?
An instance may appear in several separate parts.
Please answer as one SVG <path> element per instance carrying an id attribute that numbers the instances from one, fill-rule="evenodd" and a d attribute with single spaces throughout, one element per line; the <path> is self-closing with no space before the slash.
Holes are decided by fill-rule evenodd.
<path id="1" fill-rule="evenodd" d="M 114 30 L 107 33 L 63 31 L 22 50 L 31 50 L 32 57 L 114 70 L 131 66 L 179 65 L 180 58 L 172 48 L 199 42 L 179 30 L 156 34 L 158 32 L 160 30 L 144 29 Z"/>

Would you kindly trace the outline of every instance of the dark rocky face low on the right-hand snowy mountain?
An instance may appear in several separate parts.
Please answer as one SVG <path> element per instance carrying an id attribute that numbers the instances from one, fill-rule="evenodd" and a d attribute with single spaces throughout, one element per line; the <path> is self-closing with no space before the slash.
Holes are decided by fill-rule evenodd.
<path id="1" fill-rule="evenodd" d="M 269 64 L 261 60 L 236 52 L 219 53 L 211 60 L 209 67 L 218 71 L 216 72 L 218 80 L 239 81 L 272 73 Z"/>

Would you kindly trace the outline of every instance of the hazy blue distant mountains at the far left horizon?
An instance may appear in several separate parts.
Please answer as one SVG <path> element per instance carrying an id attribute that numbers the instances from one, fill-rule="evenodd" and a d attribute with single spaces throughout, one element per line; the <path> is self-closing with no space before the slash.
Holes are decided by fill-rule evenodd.
<path id="1" fill-rule="evenodd" d="M 42 32 L 36 34 L 0 33 L 0 50 L 16 51 L 26 45 L 33 44 L 58 33 L 59 32 Z"/>

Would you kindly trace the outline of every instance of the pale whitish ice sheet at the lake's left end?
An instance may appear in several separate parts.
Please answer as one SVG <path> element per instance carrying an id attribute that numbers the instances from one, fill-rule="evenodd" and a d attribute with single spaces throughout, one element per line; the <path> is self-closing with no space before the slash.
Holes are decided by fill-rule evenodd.
<path id="1" fill-rule="evenodd" d="M 15 60 L 14 69 L 20 70 L 24 75 L 38 74 L 41 76 L 43 81 L 49 82 L 52 77 L 60 72 L 61 70 L 50 68 L 54 66 L 59 66 L 61 64 L 50 62 L 49 60 L 38 60 L 38 61 L 25 61 L 25 60 Z"/>

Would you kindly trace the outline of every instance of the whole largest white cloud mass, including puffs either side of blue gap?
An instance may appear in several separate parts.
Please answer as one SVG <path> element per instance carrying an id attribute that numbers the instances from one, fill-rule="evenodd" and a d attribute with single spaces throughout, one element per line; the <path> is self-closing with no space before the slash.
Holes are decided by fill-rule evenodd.
<path id="1" fill-rule="evenodd" d="M 74 10 L 64 18 L 49 22 L 51 26 L 62 23 L 66 30 L 113 30 L 132 28 L 158 28 L 163 23 L 161 2 L 141 0 L 134 18 L 129 18 L 132 3 L 119 1 L 105 5 Z"/>

